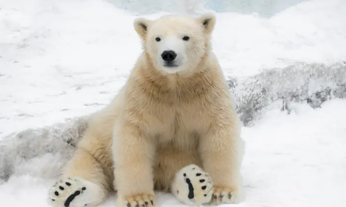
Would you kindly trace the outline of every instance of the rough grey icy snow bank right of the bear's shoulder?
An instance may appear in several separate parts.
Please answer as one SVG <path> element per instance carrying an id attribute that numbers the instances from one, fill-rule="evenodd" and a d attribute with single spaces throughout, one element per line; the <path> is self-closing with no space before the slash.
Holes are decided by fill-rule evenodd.
<path id="1" fill-rule="evenodd" d="M 281 110 L 290 113 L 293 102 L 316 108 L 327 100 L 346 98 L 346 63 L 296 63 L 284 69 L 264 70 L 250 78 L 230 79 L 228 83 L 240 119 L 247 125 L 263 113 L 262 108 L 277 101 L 281 102 Z"/>

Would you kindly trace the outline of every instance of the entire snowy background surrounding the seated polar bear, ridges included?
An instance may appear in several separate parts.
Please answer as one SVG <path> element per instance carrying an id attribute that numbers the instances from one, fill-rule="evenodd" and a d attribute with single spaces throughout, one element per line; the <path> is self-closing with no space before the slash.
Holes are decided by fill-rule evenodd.
<path id="1" fill-rule="evenodd" d="M 244 123 L 238 206 L 344 207 L 345 0 L 0 0 L 0 206 L 47 206 L 87 115 L 140 53 L 135 17 L 205 11 Z"/>

